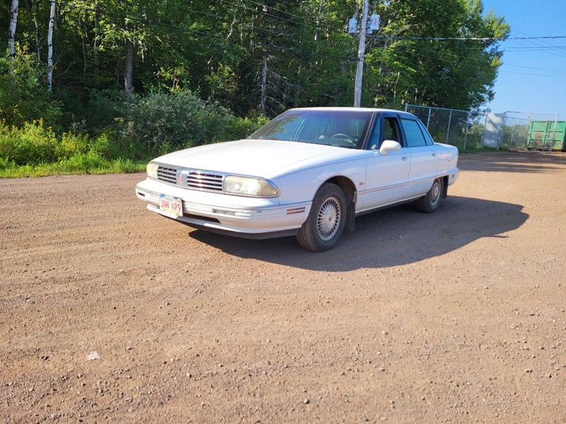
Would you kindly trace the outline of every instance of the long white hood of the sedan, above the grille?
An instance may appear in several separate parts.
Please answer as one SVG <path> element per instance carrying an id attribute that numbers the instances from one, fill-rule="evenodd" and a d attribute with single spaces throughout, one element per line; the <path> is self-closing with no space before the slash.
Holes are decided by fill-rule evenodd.
<path id="1" fill-rule="evenodd" d="M 354 158 L 359 151 L 278 140 L 240 140 L 169 153 L 155 162 L 198 170 L 274 178 L 322 163 Z"/>

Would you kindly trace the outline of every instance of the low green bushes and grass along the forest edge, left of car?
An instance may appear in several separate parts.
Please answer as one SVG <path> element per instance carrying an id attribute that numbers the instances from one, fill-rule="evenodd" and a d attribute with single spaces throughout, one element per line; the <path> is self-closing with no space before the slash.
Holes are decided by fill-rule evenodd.
<path id="1" fill-rule="evenodd" d="M 243 139 L 265 122 L 261 116 L 235 117 L 189 91 L 136 97 L 127 118 L 96 136 L 82 124 L 59 134 L 41 119 L 20 127 L 0 121 L 0 177 L 139 171 L 157 155 Z"/>

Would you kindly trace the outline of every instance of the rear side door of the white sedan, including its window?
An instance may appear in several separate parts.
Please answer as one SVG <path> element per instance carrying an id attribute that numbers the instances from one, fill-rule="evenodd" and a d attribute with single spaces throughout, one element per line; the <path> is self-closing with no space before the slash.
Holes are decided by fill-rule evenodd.
<path id="1" fill-rule="evenodd" d="M 437 146 L 429 143 L 432 139 L 424 136 L 420 122 L 415 118 L 401 116 L 399 122 L 403 130 L 405 148 L 410 154 L 408 194 L 420 196 L 429 191 L 437 176 Z"/>

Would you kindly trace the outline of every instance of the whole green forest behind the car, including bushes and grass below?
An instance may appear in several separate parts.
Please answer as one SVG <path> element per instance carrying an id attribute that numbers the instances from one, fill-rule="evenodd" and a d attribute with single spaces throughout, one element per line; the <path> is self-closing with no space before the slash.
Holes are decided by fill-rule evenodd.
<path id="1" fill-rule="evenodd" d="M 289 107 L 352 105 L 358 38 L 347 20 L 360 6 L 4 1 L 0 172 L 42 163 L 67 172 L 65 161 L 88 155 L 135 168 L 162 151 L 246 136 Z M 509 25 L 480 0 L 381 0 L 370 10 L 381 24 L 366 40 L 362 106 L 479 110 L 492 99 Z"/>

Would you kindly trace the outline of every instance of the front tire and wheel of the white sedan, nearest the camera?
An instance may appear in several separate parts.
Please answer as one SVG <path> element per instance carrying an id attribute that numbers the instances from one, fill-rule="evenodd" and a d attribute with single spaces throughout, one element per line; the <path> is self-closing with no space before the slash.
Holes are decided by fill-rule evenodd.
<path id="1" fill-rule="evenodd" d="M 297 232 L 299 245 L 314 252 L 334 247 L 346 226 L 346 196 L 336 184 L 327 182 L 313 199 L 311 212 Z"/>

